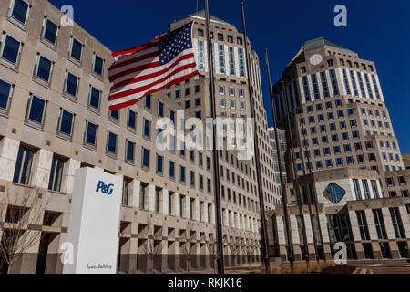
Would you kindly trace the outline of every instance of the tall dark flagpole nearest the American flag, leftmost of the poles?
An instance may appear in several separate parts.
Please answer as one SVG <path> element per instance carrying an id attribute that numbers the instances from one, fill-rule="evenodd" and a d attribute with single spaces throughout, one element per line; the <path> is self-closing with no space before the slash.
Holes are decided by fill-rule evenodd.
<path id="1" fill-rule="evenodd" d="M 211 38 L 210 38 L 210 7 L 208 0 L 205 0 L 205 21 L 207 30 L 208 41 L 208 71 L 210 74 L 210 114 L 212 118 L 212 159 L 213 159 L 213 187 L 215 191 L 215 226 L 216 226 L 216 241 L 217 241 L 217 266 L 218 274 L 224 273 L 223 265 L 223 243 L 222 243 L 222 224 L 220 214 L 220 163 L 217 150 L 217 126 L 215 123 L 216 110 L 215 110 L 215 80 L 213 78 L 213 65 L 211 57 Z"/>

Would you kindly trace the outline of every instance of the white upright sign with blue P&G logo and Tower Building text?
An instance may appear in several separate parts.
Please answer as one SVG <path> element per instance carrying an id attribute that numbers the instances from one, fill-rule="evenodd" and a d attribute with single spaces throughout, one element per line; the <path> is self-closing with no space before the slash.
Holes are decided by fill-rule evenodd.
<path id="1" fill-rule="evenodd" d="M 117 272 L 121 197 L 118 176 L 92 168 L 76 171 L 67 235 L 74 263 L 64 265 L 64 274 Z"/>

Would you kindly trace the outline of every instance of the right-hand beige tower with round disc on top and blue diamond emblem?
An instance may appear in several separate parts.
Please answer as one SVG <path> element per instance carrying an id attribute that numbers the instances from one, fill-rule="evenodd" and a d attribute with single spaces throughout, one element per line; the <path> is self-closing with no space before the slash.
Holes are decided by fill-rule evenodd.
<path id="1" fill-rule="evenodd" d="M 295 259 L 306 253 L 330 259 L 337 242 L 348 246 L 349 259 L 409 256 L 409 173 L 374 62 L 313 39 L 273 90 L 279 126 L 292 134 L 287 153 L 292 158 L 294 152 L 301 188 L 303 214 L 290 206 Z M 286 165 L 291 199 L 297 190 L 292 165 L 292 160 Z M 272 254 L 286 258 L 282 213 L 280 207 L 272 212 Z"/>

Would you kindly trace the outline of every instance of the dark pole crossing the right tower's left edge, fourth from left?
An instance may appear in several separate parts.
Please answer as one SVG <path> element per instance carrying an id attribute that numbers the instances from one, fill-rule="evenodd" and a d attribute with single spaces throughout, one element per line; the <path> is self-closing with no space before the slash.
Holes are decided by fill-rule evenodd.
<path id="1" fill-rule="evenodd" d="M 288 96 L 286 94 L 286 88 L 284 81 L 281 82 L 282 85 L 282 91 L 283 91 L 283 99 L 285 100 L 285 105 L 286 105 L 286 111 L 288 114 L 286 115 L 286 126 L 288 128 L 287 133 L 288 133 L 288 141 L 291 143 L 291 161 L 292 161 L 292 169 L 293 169 L 293 180 L 295 184 L 295 189 L 296 189 L 296 200 L 298 201 L 298 207 L 299 207 L 299 214 L 301 215 L 301 227 L 302 227 L 302 236 L 303 236 L 303 248 L 304 248 L 304 255 L 306 257 L 306 264 L 309 265 L 309 249 L 308 249 L 308 242 L 307 242 L 307 235 L 306 235 L 306 224 L 304 222 L 304 215 L 303 215 L 303 209 L 302 209 L 302 196 L 301 196 L 301 188 L 299 185 L 299 177 L 298 173 L 296 172 L 296 162 L 294 161 L 294 151 L 293 151 L 293 137 L 292 137 L 292 130 L 291 130 L 291 120 L 289 118 L 289 115 L 291 114 L 291 109 L 289 108 L 289 102 L 288 102 Z M 276 124 L 275 124 L 276 127 Z"/>

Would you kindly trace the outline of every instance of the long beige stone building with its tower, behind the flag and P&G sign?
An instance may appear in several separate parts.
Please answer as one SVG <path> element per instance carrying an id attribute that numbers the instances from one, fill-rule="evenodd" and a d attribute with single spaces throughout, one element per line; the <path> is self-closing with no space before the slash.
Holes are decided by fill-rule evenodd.
<path id="1" fill-rule="evenodd" d="M 45 210 L 26 229 L 41 234 L 41 240 L 26 250 L 12 272 L 62 272 L 60 246 L 67 239 L 74 173 L 81 167 L 118 175 L 124 182 L 118 223 L 119 271 L 169 272 L 214 266 L 211 153 L 179 149 L 178 137 L 172 142 L 174 150 L 161 151 L 156 146 L 160 118 L 173 120 L 188 133 L 190 127 L 185 123 L 190 117 L 210 117 L 203 13 L 170 26 L 174 29 L 194 21 L 200 76 L 141 99 L 128 109 L 110 112 L 107 71 L 113 58 L 108 47 L 77 24 L 60 26 L 62 13 L 46 0 L 2 3 L 0 196 L 35 192 L 46 202 Z M 211 30 L 218 115 L 251 117 L 243 36 L 216 17 L 212 17 Z M 259 61 L 255 52 L 249 56 L 261 165 L 255 165 L 253 159 L 239 160 L 238 151 L 220 151 L 228 266 L 260 260 L 257 167 L 262 173 L 267 210 L 279 200 Z M 223 130 L 230 126 L 227 120 Z M 5 236 L 7 214 L 15 214 L 18 208 L 2 202 L 0 236 Z M 4 261 L 0 267 L 6 270 Z"/>

